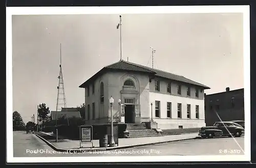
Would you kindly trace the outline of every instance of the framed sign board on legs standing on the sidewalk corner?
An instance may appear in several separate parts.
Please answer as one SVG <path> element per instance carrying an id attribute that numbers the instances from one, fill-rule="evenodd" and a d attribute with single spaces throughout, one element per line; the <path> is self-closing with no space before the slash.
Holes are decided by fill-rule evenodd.
<path id="1" fill-rule="evenodd" d="M 80 148 L 81 143 L 92 143 L 93 147 L 93 127 L 90 126 L 80 126 Z"/>

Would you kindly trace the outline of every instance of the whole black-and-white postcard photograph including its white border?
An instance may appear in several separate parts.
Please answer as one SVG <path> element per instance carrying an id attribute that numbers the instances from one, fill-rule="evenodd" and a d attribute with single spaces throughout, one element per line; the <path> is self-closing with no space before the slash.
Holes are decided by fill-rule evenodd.
<path id="1" fill-rule="evenodd" d="M 249 6 L 6 13 L 8 162 L 250 161 Z"/>

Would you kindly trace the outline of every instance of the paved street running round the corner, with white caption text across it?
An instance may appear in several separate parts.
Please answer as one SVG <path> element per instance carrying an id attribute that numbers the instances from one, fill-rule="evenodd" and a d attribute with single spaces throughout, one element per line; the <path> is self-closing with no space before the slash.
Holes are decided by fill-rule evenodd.
<path id="1" fill-rule="evenodd" d="M 28 140 L 26 140 L 28 139 Z M 244 149 L 244 137 L 236 137 L 236 141 Z M 26 150 L 30 150 L 26 153 Z M 225 151 L 226 150 L 226 151 Z M 41 153 L 40 153 L 41 151 Z M 33 152 L 30 153 L 30 152 Z M 243 155 L 243 151 L 232 137 L 212 139 L 193 139 L 181 142 L 143 146 L 130 149 L 101 151 L 91 153 L 60 153 L 53 151 L 33 134 L 14 132 L 14 157 L 51 157 L 51 156 L 159 156 L 159 155 Z"/>

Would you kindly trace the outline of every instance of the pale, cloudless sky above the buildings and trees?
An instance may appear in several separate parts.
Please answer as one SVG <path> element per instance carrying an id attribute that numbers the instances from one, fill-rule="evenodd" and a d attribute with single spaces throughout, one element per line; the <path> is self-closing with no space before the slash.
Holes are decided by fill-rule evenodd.
<path id="1" fill-rule="evenodd" d="M 24 122 L 37 105 L 55 110 L 60 62 L 67 107 L 84 103 L 78 88 L 101 68 L 120 60 L 119 14 L 13 15 L 13 111 Z M 123 14 L 122 58 L 185 76 L 211 89 L 244 88 L 243 15 Z"/>

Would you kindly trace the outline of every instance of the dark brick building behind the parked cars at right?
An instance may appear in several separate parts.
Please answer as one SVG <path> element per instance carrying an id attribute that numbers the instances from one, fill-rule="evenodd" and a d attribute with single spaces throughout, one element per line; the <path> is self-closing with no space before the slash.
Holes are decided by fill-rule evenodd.
<path id="1" fill-rule="evenodd" d="M 226 92 L 204 96 L 205 123 L 210 126 L 217 121 L 244 121 L 244 89 L 232 90 L 226 88 Z"/>

